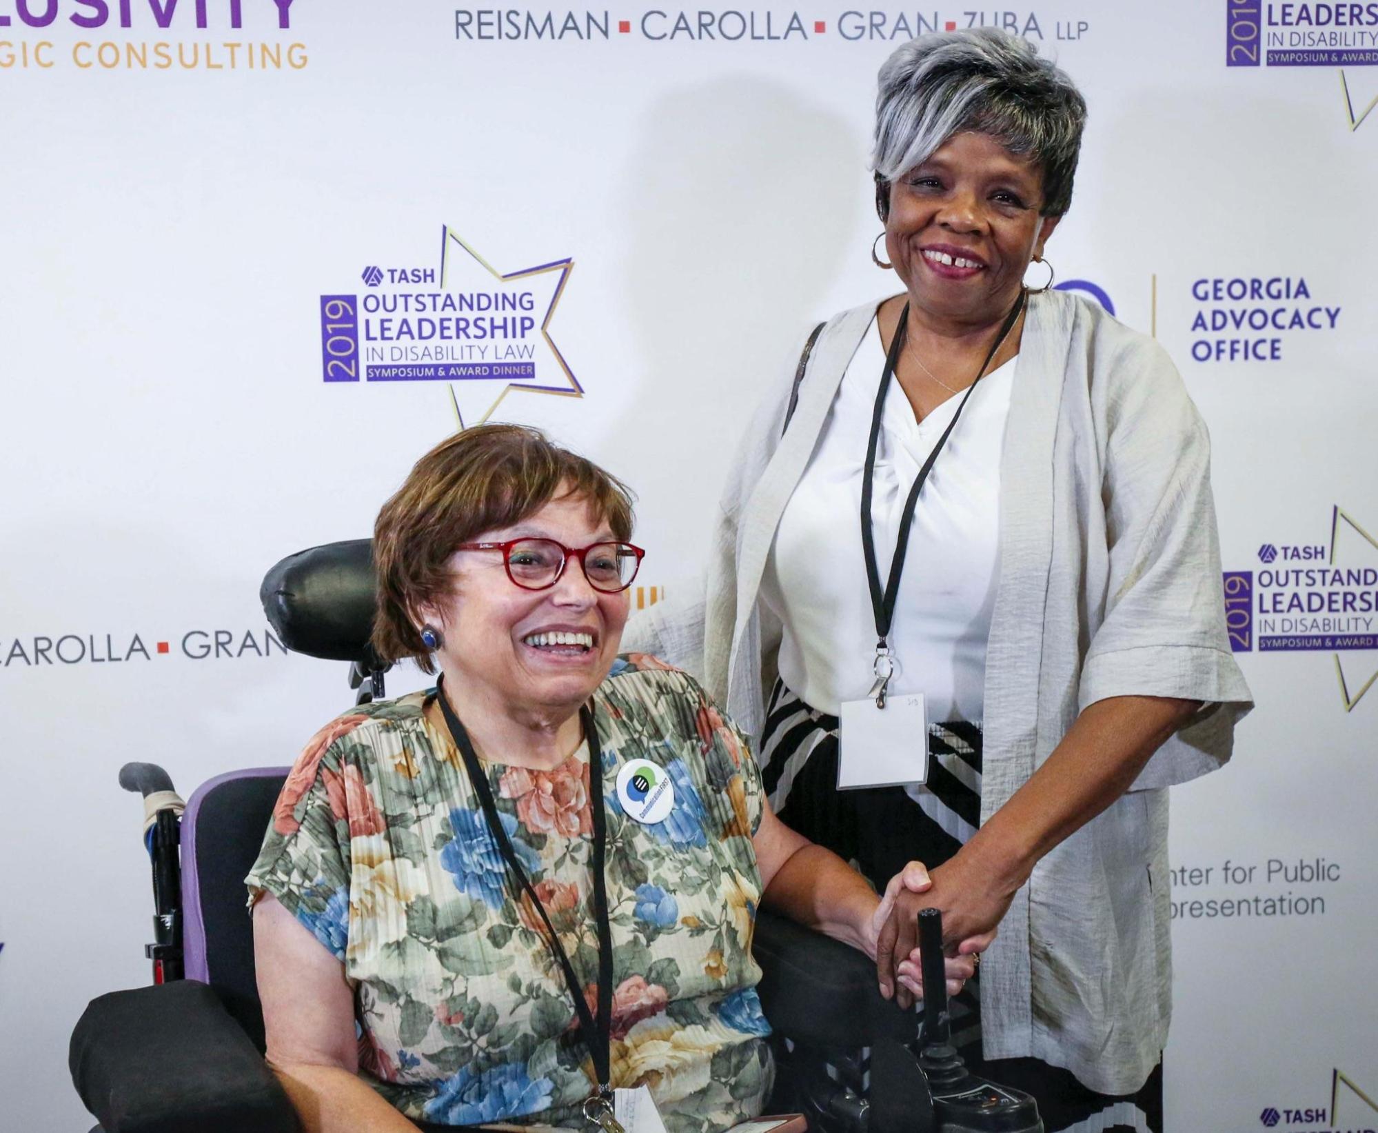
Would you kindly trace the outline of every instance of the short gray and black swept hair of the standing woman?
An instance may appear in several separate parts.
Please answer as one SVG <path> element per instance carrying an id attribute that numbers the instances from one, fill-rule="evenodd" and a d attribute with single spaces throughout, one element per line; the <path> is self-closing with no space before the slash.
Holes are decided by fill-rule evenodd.
<path id="1" fill-rule="evenodd" d="M 988 134 L 1043 172 L 1043 215 L 1072 204 L 1086 101 L 1028 40 L 999 28 L 909 40 L 881 68 L 871 167 L 882 194 L 954 134 Z"/>

